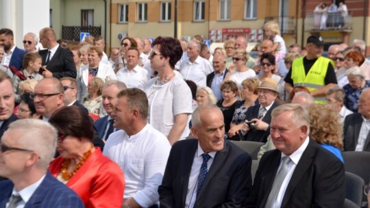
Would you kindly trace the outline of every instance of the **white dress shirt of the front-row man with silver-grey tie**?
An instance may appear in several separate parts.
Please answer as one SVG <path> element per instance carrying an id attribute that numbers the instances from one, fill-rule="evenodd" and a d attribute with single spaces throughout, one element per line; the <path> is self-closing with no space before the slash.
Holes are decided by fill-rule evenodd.
<path id="1" fill-rule="evenodd" d="M 284 153 L 282 153 L 281 159 L 285 156 L 288 156 L 291 158 L 291 162 L 289 163 L 289 168 L 288 168 L 289 171 L 286 174 L 286 177 L 282 183 L 282 186 L 280 187 L 280 191 L 279 191 L 279 194 L 277 194 L 277 198 L 275 200 L 275 203 L 273 204 L 273 208 L 279 208 L 282 206 L 282 200 L 285 195 L 286 187 L 288 187 L 289 181 L 291 181 L 295 167 L 297 167 L 299 159 L 301 159 L 302 154 L 306 150 L 308 146 L 308 142 L 310 142 L 310 139 L 307 137 L 306 140 L 304 140 L 304 143 L 291 155 L 285 155 Z M 279 172 L 280 168 L 282 168 L 282 163 L 280 163 L 279 168 L 277 168 L 277 172 Z"/>

